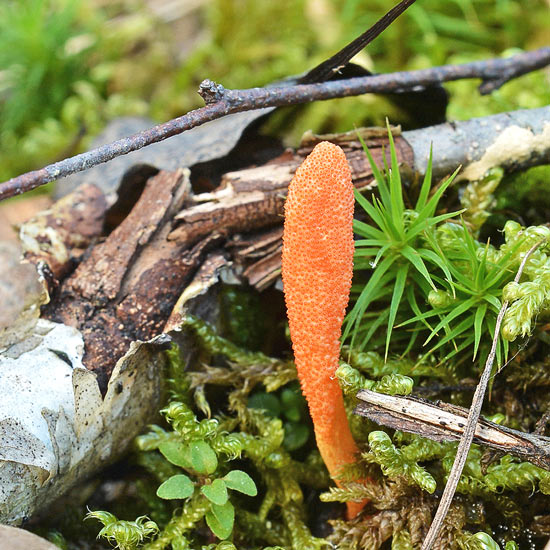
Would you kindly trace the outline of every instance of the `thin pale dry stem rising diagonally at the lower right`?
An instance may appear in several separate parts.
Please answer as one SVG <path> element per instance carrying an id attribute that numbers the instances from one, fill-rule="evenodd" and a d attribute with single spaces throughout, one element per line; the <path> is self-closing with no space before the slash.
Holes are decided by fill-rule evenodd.
<path id="1" fill-rule="evenodd" d="M 514 282 L 516 283 L 519 282 L 519 279 L 521 277 L 521 274 L 523 273 L 523 269 L 525 267 L 525 264 L 527 263 L 527 260 L 529 259 L 531 254 L 543 243 L 544 241 L 540 241 L 536 243 L 529 249 L 527 254 L 525 254 L 519 266 L 518 272 L 514 278 Z M 426 535 L 426 539 L 422 543 L 421 550 L 430 550 L 437 536 L 439 535 L 439 531 L 443 526 L 443 521 L 447 516 L 447 512 L 449 511 L 449 507 L 453 500 L 456 487 L 460 480 L 460 476 L 462 475 L 464 464 L 466 464 L 466 458 L 468 457 L 468 452 L 470 451 L 470 447 L 472 446 L 472 441 L 474 439 L 477 422 L 479 420 L 479 415 L 481 414 L 481 407 L 483 406 L 483 399 L 485 397 L 485 392 L 487 390 L 487 384 L 491 377 L 491 371 L 493 369 L 493 363 L 495 361 L 497 343 L 500 335 L 500 325 L 502 324 L 502 319 L 504 318 L 504 314 L 508 309 L 508 304 L 509 302 L 503 302 L 502 307 L 498 312 L 497 321 L 495 324 L 495 335 L 493 337 L 491 351 L 489 352 L 489 356 L 487 357 L 487 361 L 485 362 L 485 367 L 483 368 L 483 372 L 481 374 L 479 384 L 477 385 L 476 391 L 474 393 L 474 397 L 472 399 L 472 406 L 470 407 L 468 420 L 466 422 L 466 426 L 464 427 L 462 438 L 460 439 L 460 443 L 458 444 L 458 449 L 456 451 L 456 457 L 453 463 L 453 467 L 451 468 L 451 471 L 449 473 L 447 484 L 445 485 L 445 489 L 443 491 L 443 495 L 441 496 L 441 500 L 439 502 L 437 512 L 435 513 L 435 517 L 432 521 L 432 525 L 430 526 L 430 530 Z"/>

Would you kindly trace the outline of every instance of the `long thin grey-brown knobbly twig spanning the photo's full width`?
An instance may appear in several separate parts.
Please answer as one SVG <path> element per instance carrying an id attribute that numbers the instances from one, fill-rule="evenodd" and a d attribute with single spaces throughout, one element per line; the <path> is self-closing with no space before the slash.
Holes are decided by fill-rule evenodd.
<path id="1" fill-rule="evenodd" d="M 522 53 L 507 59 L 475 61 L 463 65 L 443 65 L 418 71 L 404 71 L 356 77 L 321 84 L 298 84 L 248 90 L 226 90 L 210 80 L 201 83 L 199 94 L 206 106 L 86 153 L 50 164 L 40 170 L 27 172 L 0 183 L 0 200 L 30 191 L 50 181 L 87 170 L 121 155 L 137 151 L 186 130 L 221 118 L 231 113 L 298 105 L 312 101 L 355 96 L 365 93 L 388 93 L 412 90 L 466 78 L 480 78 L 481 93 L 502 86 L 506 81 L 550 64 L 550 47 Z"/>

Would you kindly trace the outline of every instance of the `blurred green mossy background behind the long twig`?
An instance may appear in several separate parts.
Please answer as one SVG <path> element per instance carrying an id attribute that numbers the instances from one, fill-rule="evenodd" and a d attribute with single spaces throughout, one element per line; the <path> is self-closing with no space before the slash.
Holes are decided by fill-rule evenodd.
<path id="1" fill-rule="evenodd" d="M 2 0 L 0 180 L 85 150 L 121 115 L 164 121 L 201 106 L 198 84 L 261 86 L 302 73 L 373 24 L 388 0 Z M 376 72 L 510 55 L 547 45 L 549 0 L 418 0 L 356 61 Z M 489 97 L 447 86 L 449 118 L 548 102 L 548 72 Z M 349 130 L 402 113 L 367 95 L 275 117 L 303 131 Z"/>

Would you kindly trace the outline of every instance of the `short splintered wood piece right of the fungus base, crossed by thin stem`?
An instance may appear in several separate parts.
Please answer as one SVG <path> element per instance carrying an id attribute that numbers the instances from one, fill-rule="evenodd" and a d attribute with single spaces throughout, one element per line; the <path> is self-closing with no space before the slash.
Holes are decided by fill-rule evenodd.
<path id="1" fill-rule="evenodd" d="M 360 403 L 355 413 L 382 426 L 434 441 L 458 441 L 468 418 L 468 409 L 416 397 L 361 390 L 357 398 Z M 474 441 L 550 470 L 550 437 L 512 430 L 481 418 L 476 426 Z"/>

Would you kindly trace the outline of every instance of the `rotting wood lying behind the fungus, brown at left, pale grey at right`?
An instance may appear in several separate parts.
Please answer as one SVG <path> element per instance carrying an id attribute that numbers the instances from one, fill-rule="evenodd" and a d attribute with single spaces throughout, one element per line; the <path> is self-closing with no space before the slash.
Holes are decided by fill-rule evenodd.
<path id="1" fill-rule="evenodd" d="M 389 153 L 387 131 L 360 132 L 382 166 L 383 155 Z M 480 166 L 487 170 L 494 163 L 512 171 L 550 162 L 550 108 L 414 132 L 401 133 L 394 128 L 393 134 L 398 160 L 408 177 L 423 173 L 432 142 L 436 149 L 433 171 L 440 176 L 460 162 L 466 174 L 478 174 Z M 527 134 L 530 140 L 525 139 Z M 503 136 L 512 143 L 522 138 L 515 156 L 509 148 L 506 158 L 492 152 Z M 211 193 L 193 195 L 181 172 L 160 172 L 148 180 L 124 221 L 103 242 L 92 246 L 65 279 L 84 246 L 101 233 L 105 199 L 93 186 L 81 188 L 34 224 L 39 231 L 29 241 L 27 258 L 48 265 L 52 288 L 59 286 L 44 316 L 82 332 L 84 363 L 99 376 L 103 389 L 117 359 L 132 341 L 147 341 L 162 333 L 176 300 L 209 251 L 223 253 L 234 276 L 259 290 L 278 279 L 287 186 L 305 156 L 323 139 L 343 147 L 354 184 L 368 189 L 372 172 L 357 132 L 309 133 L 296 151 L 286 151 L 261 166 L 223 174 L 221 185 Z M 86 225 L 86 216 L 91 216 L 93 223 Z M 58 242 L 63 244 L 61 254 L 54 246 Z"/>

